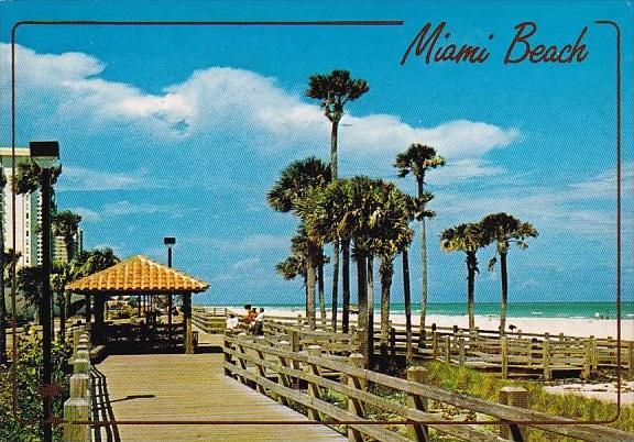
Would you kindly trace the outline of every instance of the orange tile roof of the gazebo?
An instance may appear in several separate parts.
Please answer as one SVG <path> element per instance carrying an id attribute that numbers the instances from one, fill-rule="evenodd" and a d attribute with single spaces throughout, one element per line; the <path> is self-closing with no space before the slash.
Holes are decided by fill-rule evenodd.
<path id="1" fill-rule="evenodd" d="M 133 256 L 66 286 L 67 290 L 76 294 L 200 292 L 208 288 L 209 284 L 142 255 Z"/>

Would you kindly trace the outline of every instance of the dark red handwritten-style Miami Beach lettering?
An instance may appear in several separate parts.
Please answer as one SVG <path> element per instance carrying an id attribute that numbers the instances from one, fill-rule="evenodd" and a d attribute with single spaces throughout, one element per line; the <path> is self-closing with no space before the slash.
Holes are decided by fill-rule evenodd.
<path id="1" fill-rule="evenodd" d="M 491 53 L 484 44 L 455 42 L 446 27 L 446 22 L 440 22 L 436 27 L 431 23 L 425 24 L 407 46 L 401 58 L 401 65 L 404 65 L 409 56 L 419 57 L 426 64 L 445 62 L 478 64 L 489 59 Z M 504 64 L 581 63 L 588 57 L 588 48 L 583 43 L 587 32 L 588 26 L 584 26 L 573 44 L 557 45 L 539 40 L 539 35 L 536 35 L 536 23 L 520 23 L 515 25 L 515 36 L 504 54 Z M 494 34 L 489 34 L 488 40 L 492 41 L 494 37 Z"/>

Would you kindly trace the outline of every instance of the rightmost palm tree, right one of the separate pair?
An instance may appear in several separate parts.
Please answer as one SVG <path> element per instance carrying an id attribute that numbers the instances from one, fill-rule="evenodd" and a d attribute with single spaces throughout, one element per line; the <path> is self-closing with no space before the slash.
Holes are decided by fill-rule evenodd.
<path id="1" fill-rule="evenodd" d="M 500 333 L 504 334 L 506 330 L 506 308 L 509 303 L 509 277 L 506 270 L 506 255 L 511 248 L 511 243 L 517 244 L 521 250 L 528 247 L 526 239 L 536 237 L 538 235 L 537 229 L 528 222 L 522 222 L 515 217 L 507 213 L 492 213 L 480 221 L 482 230 L 488 236 L 488 242 L 495 243 L 496 255 L 500 255 L 500 274 L 502 279 L 502 294 L 500 302 Z M 493 270 L 493 266 L 498 262 L 496 256 L 493 256 L 489 262 L 489 269 Z"/>

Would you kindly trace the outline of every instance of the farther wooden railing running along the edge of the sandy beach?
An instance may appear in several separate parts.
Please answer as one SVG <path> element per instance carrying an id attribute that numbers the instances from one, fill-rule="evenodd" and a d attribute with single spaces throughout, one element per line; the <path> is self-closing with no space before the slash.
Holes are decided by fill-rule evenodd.
<path id="1" fill-rule="evenodd" d="M 330 333 L 337 340 L 329 324 L 320 324 L 313 333 Z M 357 322 L 350 324 L 350 335 L 356 336 Z M 277 330 L 297 328 L 306 330 L 304 317 L 266 317 L 265 328 Z M 379 351 L 381 324 L 374 324 L 374 346 Z M 419 328 L 413 329 L 416 341 Z M 578 372 L 582 378 L 591 377 L 599 368 L 616 367 L 619 351 L 616 340 L 612 338 L 579 338 L 548 333 L 509 332 L 500 335 L 499 331 L 460 329 L 458 327 L 436 327 L 426 329 L 425 349 L 417 349 L 415 357 L 445 361 L 453 365 L 469 366 L 479 369 L 498 371 L 507 376 L 543 376 L 550 379 L 556 372 Z M 315 342 L 318 344 L 319 342 Z M 406 334 L 403 324 L 390 324 L 389 350 L 391 354 L 406 353 Z M 634 341 L 621 341 L 621 367 L 634 375 Z"/>

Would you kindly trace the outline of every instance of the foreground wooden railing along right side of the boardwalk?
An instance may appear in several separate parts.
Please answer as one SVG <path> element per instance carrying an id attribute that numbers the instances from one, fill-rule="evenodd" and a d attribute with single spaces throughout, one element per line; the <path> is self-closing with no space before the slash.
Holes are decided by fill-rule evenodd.
<path id="1" fill-rule="evenodd" d="M 427 441 L 429 429 L 464 441 L 521 441 L 525 427 L 533 427 L 550 434 L 576 438 L 582 441 L 632 441 L 632 434 L 601 426 L 570 426 L 571 420 L 532 411 L 517 405 L 526 404 L 526 390 L 507 388 L 501 391 L 505 404 L 495 404 L 466 395 L 446 391 L 425 384 L 424 367 L 407 371 L 407 380 L 360 368 L 363 356 L 352 353 L 347 357 L 325 353 L 319 345 L 294 352 L 292 343 L 271 343 L 265 336 L 225 335 L 225 374 L 273 397 L 284 405 L 300 405 L 308 417 L 319 422 L 345 422 L 352 441 L 370 438 L 376 441 Z M 373 388 L 368 388 L 372 386 Z M 373 393 L 376 387 L 407 397 L 407 404 Z M 346 398 L 343 408 L 326 400 L 335 391 Z M 451 406 L 487 416 L 498 423 L 500 433 L 479 426 L 448 424 L 429 407 L 429 401 Z M 390 427 L 372 424 L 369 410 L 391 413 Z M 395 420 L 398 418 L 400 420 Z M 505 422 L 548 422 L 524 423 Z"/>

